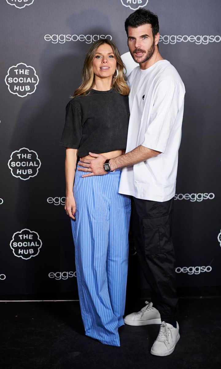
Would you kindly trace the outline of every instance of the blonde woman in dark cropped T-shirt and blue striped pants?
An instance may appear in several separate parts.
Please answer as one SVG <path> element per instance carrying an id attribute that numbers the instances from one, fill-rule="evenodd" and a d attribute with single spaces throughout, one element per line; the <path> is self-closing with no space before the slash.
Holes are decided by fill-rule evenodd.
<path id="1" fill-rule="evenodd" d="M 107 158 L 124 154 L 129 87 L 123 68 L 113 42 L 91 46 L 60 142 L 66 147 L 64 208 L 71 218 L 85 334 L 113 346 L 120 346 L 118 327 L 124 324 L 130 199 L 118 193 L 120 170 L 83 178 L 76 162 L 90 157 L 89 151 Z"/>

